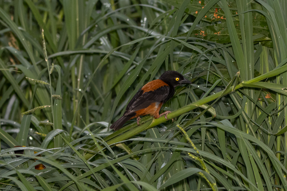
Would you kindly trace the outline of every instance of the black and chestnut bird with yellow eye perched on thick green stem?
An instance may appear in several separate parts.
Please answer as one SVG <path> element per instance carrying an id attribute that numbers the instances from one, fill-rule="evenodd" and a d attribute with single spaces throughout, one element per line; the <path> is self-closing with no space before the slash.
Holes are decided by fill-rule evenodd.
<path id="1" fill-rule="evenodd" d="M 151 115 L 155 119 L 171 111 L 159 114 L 162 105 L 174 95 L 174 88 L 181 84 L 192 84 L 177 71 L 168 70 L 157 80 L 152 80 L 140 88 L 135 96 L 128 103 L 125 113 L 110 126 L 110 129 L 117 131 L 130 119 L 137 118 L 139 125 L 140 116 Z M 168 119 L 167 119 L 168 120 Z"/>

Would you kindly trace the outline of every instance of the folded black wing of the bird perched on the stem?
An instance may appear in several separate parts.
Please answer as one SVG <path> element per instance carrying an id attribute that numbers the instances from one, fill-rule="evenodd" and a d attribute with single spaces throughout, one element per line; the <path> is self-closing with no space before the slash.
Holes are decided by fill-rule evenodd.
<path id="1" fill-rule="evenodd" d="M 139 90 L 127 105 L 124 115 L 147 108 L 151 103 L 163 102 L 168 97 L 169 89 L 169 86 L 161 86 L 154 91 Z"/>

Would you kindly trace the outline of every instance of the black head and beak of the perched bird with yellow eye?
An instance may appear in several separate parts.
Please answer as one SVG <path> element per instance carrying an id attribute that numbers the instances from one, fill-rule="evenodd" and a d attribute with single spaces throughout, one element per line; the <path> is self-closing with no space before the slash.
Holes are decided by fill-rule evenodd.
<path id="1" fill-rule="evenodd" d="M 164 72 L 159 79 L 173 87 L 179 86 L 181 84 L 191 84 L 191 82 L 184 78 L 183 75 L 173 70 Z"/>

